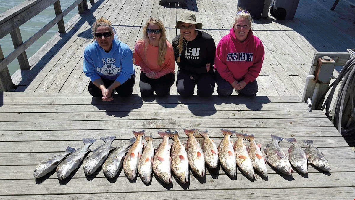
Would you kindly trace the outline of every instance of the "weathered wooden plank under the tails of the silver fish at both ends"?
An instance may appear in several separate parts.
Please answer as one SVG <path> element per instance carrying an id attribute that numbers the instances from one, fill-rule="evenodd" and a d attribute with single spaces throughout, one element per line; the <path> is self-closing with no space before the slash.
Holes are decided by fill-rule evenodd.
<path id="1" fill-rule="evenodd" d="M 154 141 L 153 141 L 153 146 L 155 149 L 158 148 L 159 144 L 162 142 L 162 139 L 158 136 L 158 134 L 155 132 L 152 134 L 152 132 L 147 130 L 146 135 L 154 135 Z M 180 135 L 183 135 L 184 133 L 180 132 Z M 94 138 L 99 138 L 99 137 L 104 137 L 107 134 L 97 134 L 96 137 Z M 223 139 L 222 133 L 217 135 L 218 137 L 211 137 L 213 138 L 216 146 L 219 145 L 220 141 Z M 256 137 L 255 140 L 258 143 L 262 144 L 262 148 L 265 148 L 268 143 L 271 143 L 271 137 L 259 137 L 258 133 L 254 133 L 254 136 Z M 131 135 L 133 137 L 133 134 Z M 159 137 L 159 138 L 158 138 Z M 342 137 L 295 137 L 296 140 L 300 143 L 301 147 L 307 147 L 307 144 L 302 142 L 302 140 L 313 140 L 315 146 L 317 147 L 348 147 L 349 144 L 347 144 Z M 67 138 L 62 137 L 62 140 L 67 140 Z M 197 139 L 201 144 L 202 144 L 202 138 Z M 128 140 L 114 140 L 112 143 L 112 146 L 117 147 L 117 146 L 123 146 Z M 181 143 L 186 144 L 187 138 L 180 138 Z M 231 141 L 235 142 L 236 137 L 232 136 Z M 172 139 L 170 140 L 172 142 Z M 97 141 L 92 146 L 90 147 L 92 150 L 99 147 L 101 144 L 103 144 L 103 141 Z M 144 143 L 146 143 L 144 141 Z M 248 141 L 244 141 L 244 143 L 249 146 Z M 79 148 L 83 146 L 83 142 L 80 141 L 26 141 L 26 142 L 0 142 L 0 152 L 2 153 L 31 153 L 31 152 L 62 152 L 66 149 L 66 147 L 71 146 L 73 148 Z M 280 147 L 284 148 L 285 152 L 287 152 L 288 148 L 290 147 L 291 143 L 287 141 L 282 141 L 279 143 Z M 327 157 L 327 155 L 325 155 Z M 355 155 L 354 155 L 355 156 Z M 328 157 L 327 157 L 328 158 Z M 336 158 L 336 157 L 335 157 Z M 330 159 L 330 158 L 329 158 Z"/>

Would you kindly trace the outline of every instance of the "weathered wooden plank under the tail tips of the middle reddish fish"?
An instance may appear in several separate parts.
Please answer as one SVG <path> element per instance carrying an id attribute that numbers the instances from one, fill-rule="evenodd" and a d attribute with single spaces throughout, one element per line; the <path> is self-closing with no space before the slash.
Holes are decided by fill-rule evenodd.
<path id="1" fill-rule="evenodd" d="M 271 134 L 280 137 L 339 137 L 340 133 L 335 127 L 319 128 L 319 127 L 284 127 L 284 128 L 264 128 L 264 127 L 233 127 L 231 128 L 237 132 L 255 134 L 258 137 L 270 137 Z M 157 130 L 146 129 L 146 135 L 153 135 L 158 138 Z M 181 138 L 186 138 L 182 128 L 174 129 L 178 131 Z M 201 129 L 200 129 L 201 130 Z M 202 129 L 203 130 L 203 129 Z M 1 131 L 0 141 L 60 141 L 60 140 L 82 140 L 82 138 L 97 137 L 98 130 L 69 130 L 69 131 Z M 220 128 L 208 128 L 210 137 L 220 137 L 222 133 Z M 132 129 L 106 129 L 105 135 L 115 135 L 121 140 L 128 140 L 133 137 Z M 195 133 L 195 137 L 201 137 Z M 256 140 L 258 140 L 256 138 Z"/>

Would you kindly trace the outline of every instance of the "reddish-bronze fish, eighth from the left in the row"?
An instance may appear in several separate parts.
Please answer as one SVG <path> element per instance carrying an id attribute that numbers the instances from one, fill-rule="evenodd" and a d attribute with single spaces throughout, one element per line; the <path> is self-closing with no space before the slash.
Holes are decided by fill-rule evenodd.
<path id="1" fill-rule="evenodd" d="M 170 158 L 171 158 L 171 171 L 181 183 L 185 184 L 189 181 L 189 160 L 187 160 L 187 152 L 185 146 L 179 140 L 178 131 L 169 133 L 173 138 L 171 145 Z"/>

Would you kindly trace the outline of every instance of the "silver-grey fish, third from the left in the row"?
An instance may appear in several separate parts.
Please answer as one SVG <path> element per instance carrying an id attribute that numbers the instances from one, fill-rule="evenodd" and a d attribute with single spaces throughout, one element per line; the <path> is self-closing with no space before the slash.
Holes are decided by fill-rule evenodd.
<path id="1" fill-rule="evenodd" d="M 106 160 L 110 151 L 116 147 L 111 147 L 112 142 L 116 139 L 116 136 L 100 137 L 105 144 L 102 144 L 98 148 L 94 149 L 91 156 L 84 159 L 83 169 L 86 175 L 93 174 Z"/>

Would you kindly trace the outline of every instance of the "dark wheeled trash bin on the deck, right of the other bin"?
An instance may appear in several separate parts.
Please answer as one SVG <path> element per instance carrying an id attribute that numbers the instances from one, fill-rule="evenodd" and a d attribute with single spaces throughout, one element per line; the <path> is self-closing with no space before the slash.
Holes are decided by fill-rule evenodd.
<path id="1" fill-rule="evenodd" d="M 273 0 L 270 14 L 277 20 L 293 20 L 300 0 Z"/>

